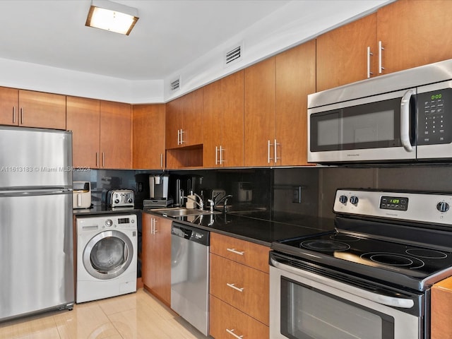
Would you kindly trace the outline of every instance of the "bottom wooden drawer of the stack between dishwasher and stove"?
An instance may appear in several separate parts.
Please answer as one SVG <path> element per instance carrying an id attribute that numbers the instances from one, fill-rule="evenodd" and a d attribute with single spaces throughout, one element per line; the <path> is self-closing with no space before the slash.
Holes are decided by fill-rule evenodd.
<path id="1" fill-rule="evenodd" d="M 243 339 L 268 339 L 270 333 L 268 326 L 210 295 L 210 335 L 215 339 L 236 339 L 241 335 Z"/>

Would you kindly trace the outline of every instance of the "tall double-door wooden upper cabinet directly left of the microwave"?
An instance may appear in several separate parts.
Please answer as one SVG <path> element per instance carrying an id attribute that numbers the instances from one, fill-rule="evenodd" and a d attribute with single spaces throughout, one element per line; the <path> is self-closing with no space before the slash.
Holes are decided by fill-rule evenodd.
<path id="1" fill-rule="evenodd" d="M 244 165 L 307 164 L 307 95 L 315 92 L 311 40 L 245 69 Z"/>

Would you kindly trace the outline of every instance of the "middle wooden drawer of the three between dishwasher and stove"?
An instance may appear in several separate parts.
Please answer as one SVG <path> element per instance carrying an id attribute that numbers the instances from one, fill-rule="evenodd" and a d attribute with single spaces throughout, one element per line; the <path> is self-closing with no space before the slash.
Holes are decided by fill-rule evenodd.
<path id="1" fill-rule="evenodd" d="M 268 325 L 268 274 L 210 254 L 210 294 Z"/>

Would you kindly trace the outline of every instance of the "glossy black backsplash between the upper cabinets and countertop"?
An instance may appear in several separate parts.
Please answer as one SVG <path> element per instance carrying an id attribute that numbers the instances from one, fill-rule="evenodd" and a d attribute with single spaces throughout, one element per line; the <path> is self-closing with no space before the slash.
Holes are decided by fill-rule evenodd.
<path id="1" fill-rule="evenodd" d="M 74 181 L 90 181 L 93 204 L 100 204 L 109 189 L 136 190 L 136 174 L 156 173 L 133 170 L 90 170 L 74 172 Z M 161 173 L 161 172 L 160 172 Z M 169 171 L 169 196 L 174 196 L 176 179 L 185 193 L 194 189 L 205 198 L 211 189 L 234 194 L 238 182 L 247 182 L 252 200 L 228 201 L 236 209 L 259 209 L 267 218 L 281 213 L 332 218 L 333 199 L 338 188 L 371 188 L 452 192 L 452 166 L 403 165 L 394 167 L 296 167 L 276 169 L 209 169 Z M 301 192 L 301 195 L 299 194 Z M 264 213 L 264 216 L 265 216 Z"/>

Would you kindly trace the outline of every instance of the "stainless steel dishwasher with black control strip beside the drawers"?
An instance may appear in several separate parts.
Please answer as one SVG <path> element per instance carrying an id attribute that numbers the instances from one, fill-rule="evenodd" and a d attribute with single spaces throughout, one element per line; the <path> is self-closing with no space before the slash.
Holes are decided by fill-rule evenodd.
<path id="1" fill-rule="evenodd" d="M 210 232 L 172 223 L 171 308 L 203 335 L 209 332 Z"/>

